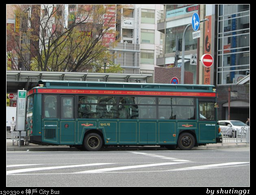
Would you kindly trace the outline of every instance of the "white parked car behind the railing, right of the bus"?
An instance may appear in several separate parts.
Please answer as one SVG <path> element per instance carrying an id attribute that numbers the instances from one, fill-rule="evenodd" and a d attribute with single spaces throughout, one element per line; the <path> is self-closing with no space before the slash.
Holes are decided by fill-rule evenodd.
<path id="1" fill-rule="evenodd" d="M 248 129 L 248 126 L 242 121 L 218 121 L 219 127 L 221 128 L 221 133 L 223 136 L 236 137 L 236 135 L 245 134 L 246 131 L 241 131 Z"/>

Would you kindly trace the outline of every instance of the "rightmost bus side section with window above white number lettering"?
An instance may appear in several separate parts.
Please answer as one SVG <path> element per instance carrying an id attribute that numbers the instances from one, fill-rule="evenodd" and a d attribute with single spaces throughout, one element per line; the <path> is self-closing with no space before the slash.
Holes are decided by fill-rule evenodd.
<path id="1" fill-rule="evenodd" d="M 215 101 L 198 100 L 199 143 L 216 143 Z"/>

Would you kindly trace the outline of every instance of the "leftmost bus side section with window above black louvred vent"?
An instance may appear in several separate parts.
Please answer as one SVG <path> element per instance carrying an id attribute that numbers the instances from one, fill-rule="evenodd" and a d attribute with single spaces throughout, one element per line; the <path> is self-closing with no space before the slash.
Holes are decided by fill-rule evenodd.
<path id="1" fill-rule="evenodd" d="M 43 142 L 59 144 L 59 95 L 43 95 L 41 138 Z M 39 132 L 40 133 L 40 132 Z"/>

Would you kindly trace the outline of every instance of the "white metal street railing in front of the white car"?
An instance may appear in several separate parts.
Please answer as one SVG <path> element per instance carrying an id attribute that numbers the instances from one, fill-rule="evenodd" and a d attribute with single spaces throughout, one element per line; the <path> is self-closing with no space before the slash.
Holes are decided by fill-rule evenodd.
<path id="1" fill-rule="evenodd" d="M 225 133 L 222 133 L 222 145 L 225 143 L 249 143 L 250 128 L 241 127 L 240 129 L 228 128 Z"/>

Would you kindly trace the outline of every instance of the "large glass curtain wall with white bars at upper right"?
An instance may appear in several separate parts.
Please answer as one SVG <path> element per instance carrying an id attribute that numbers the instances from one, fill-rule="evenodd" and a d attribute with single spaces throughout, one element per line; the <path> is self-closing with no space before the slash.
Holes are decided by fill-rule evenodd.
<path id="1" fill-rule="evenodd" d="M 249 72 L 249 7 L 219 5 L 218 24 L 217 85 L 236 84 Z"/>

